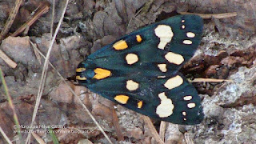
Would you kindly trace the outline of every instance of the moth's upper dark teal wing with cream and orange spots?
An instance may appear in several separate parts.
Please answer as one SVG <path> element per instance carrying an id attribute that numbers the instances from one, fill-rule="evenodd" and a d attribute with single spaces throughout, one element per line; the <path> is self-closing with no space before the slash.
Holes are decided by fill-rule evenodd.
<path id="1" fill-rule="evenodd" d="M 197 50 L 202 18 L 178 15 L 146 26 L 90 54 L 87 61 L 118 74 L 172 75 Z M 145 73 L 146 71 L 146 73 Z"/>

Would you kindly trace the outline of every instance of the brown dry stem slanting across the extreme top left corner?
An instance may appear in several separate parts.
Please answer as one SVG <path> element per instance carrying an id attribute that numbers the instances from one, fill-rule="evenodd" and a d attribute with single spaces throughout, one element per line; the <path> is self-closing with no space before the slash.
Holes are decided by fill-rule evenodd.
<path id="1" fill-rule="evenodd" d="M 18 9 L 22 4 L 22 0 L 16 0 L 14 8 L 11 10 L 10 15 L 6 21 L 6 26 L 3 28 L 1 34 L 0 34 L 0 41 L 6 36 L 8 31 L 10 30 L 10 26 L 13 25 L 14 19 L 18 13 Z"/>

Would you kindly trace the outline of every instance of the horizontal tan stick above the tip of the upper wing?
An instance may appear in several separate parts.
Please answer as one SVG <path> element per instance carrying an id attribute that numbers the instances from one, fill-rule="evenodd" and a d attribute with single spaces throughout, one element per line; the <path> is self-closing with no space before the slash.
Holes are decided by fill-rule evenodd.
<path id="1" fill-rule="evenodd" d="M 234 13 L 224 13 L 224 14 L 198 14 L 198 13 L 188 13 L 188 12 L 179 12 L 179 14 L 196 14 L 202 17 L 203 19 L 210 19 L 210 18 L 230 18 L 235 17 L 238 14 L 236 12 Z"/>

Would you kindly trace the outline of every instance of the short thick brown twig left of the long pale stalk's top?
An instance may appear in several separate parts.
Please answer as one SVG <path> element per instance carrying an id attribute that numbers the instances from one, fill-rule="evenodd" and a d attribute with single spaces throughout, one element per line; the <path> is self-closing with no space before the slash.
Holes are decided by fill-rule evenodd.
<path id="1" fill-rule="evenodd" d="M 31 18 L 28 22 L 24 23 L 18 30 L 14 32 L 14 34 L 11 34 L 11 36 L 15 37 L 18 34 L 22 33 L 23 30 L 26 30 L 26 27 L 30 27 L 35 21 L 38 20 L 42 16 L 42 14 L 46 14 L 50 9 L 50 6 L 45 5 L 42 7 L 42 9 L 38 10 L 36 14 L 34 14 L 33 18 Z"/>

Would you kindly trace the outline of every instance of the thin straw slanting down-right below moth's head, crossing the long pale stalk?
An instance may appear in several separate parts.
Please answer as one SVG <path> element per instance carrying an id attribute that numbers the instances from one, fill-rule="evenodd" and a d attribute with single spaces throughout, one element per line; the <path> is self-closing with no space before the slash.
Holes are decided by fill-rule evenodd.
<path id="1" fill-rule="evenodd" d="M 31 44 L 32 46 L 34 46 L 33 42 L 30 42 L 30 44 Z M 35 49 L 35 50 L 38 50 L 38 48 L 37 48 L 36 46 L 34 46 L 34 49 Z M 41 54 L 42 58 L 45 58 L 45 59 L 46 59 L 46 56 L 44 56 L 40 50 L 38 50 L 38 53 Z M 64 83 L 66 84 L 66 86 L 68 86 L 69 90 L 71 91 L 72 94 L 74 94 L 75 98 L 78 98 L 78 102 L 82 105 L 82 107 L 83 107 L 83 108 L 86 110 L 86 112 L 90 115 L 90 118 L 92 118 L 92 120 L 94 121 L 94 123 L 96 124 L 96 126 L 98 126 L 98 129 L 101 130 L 101 132 L 102 132 L 102 134 L 105 136 L 105 138 L 106 138 L 110 143 L 112 143 L 112 142 L 110 141 L 110 138 L 108 138 L 108 136 L 106 135 L 105 131 L 102 129 L 102 127 L 98 124 L 98 122 L 97 122 L 96 119 L 94 118 L 93 114 L 90 113 L 90 111 L 87 109 L 87 107 L 86 107 L 86 106 L 82 103 L 82 101 L 79 99 L 78 95 L 75 94 L 75 93 L 74 93 L 74 90 L 72 90 L 72 88 L 66 83 L 65 78 L 62 77 L 62 74 L 60 74 L 60 73 L 58 72 L 58 70 L 54 67 L 54 65 L 51 64 L 50 62 L 49 62 L 49 65 L 57 72 L 58 76 L 59 76 L 60 78 L 62 78 L 62 82 L 64 82 Z"/>

